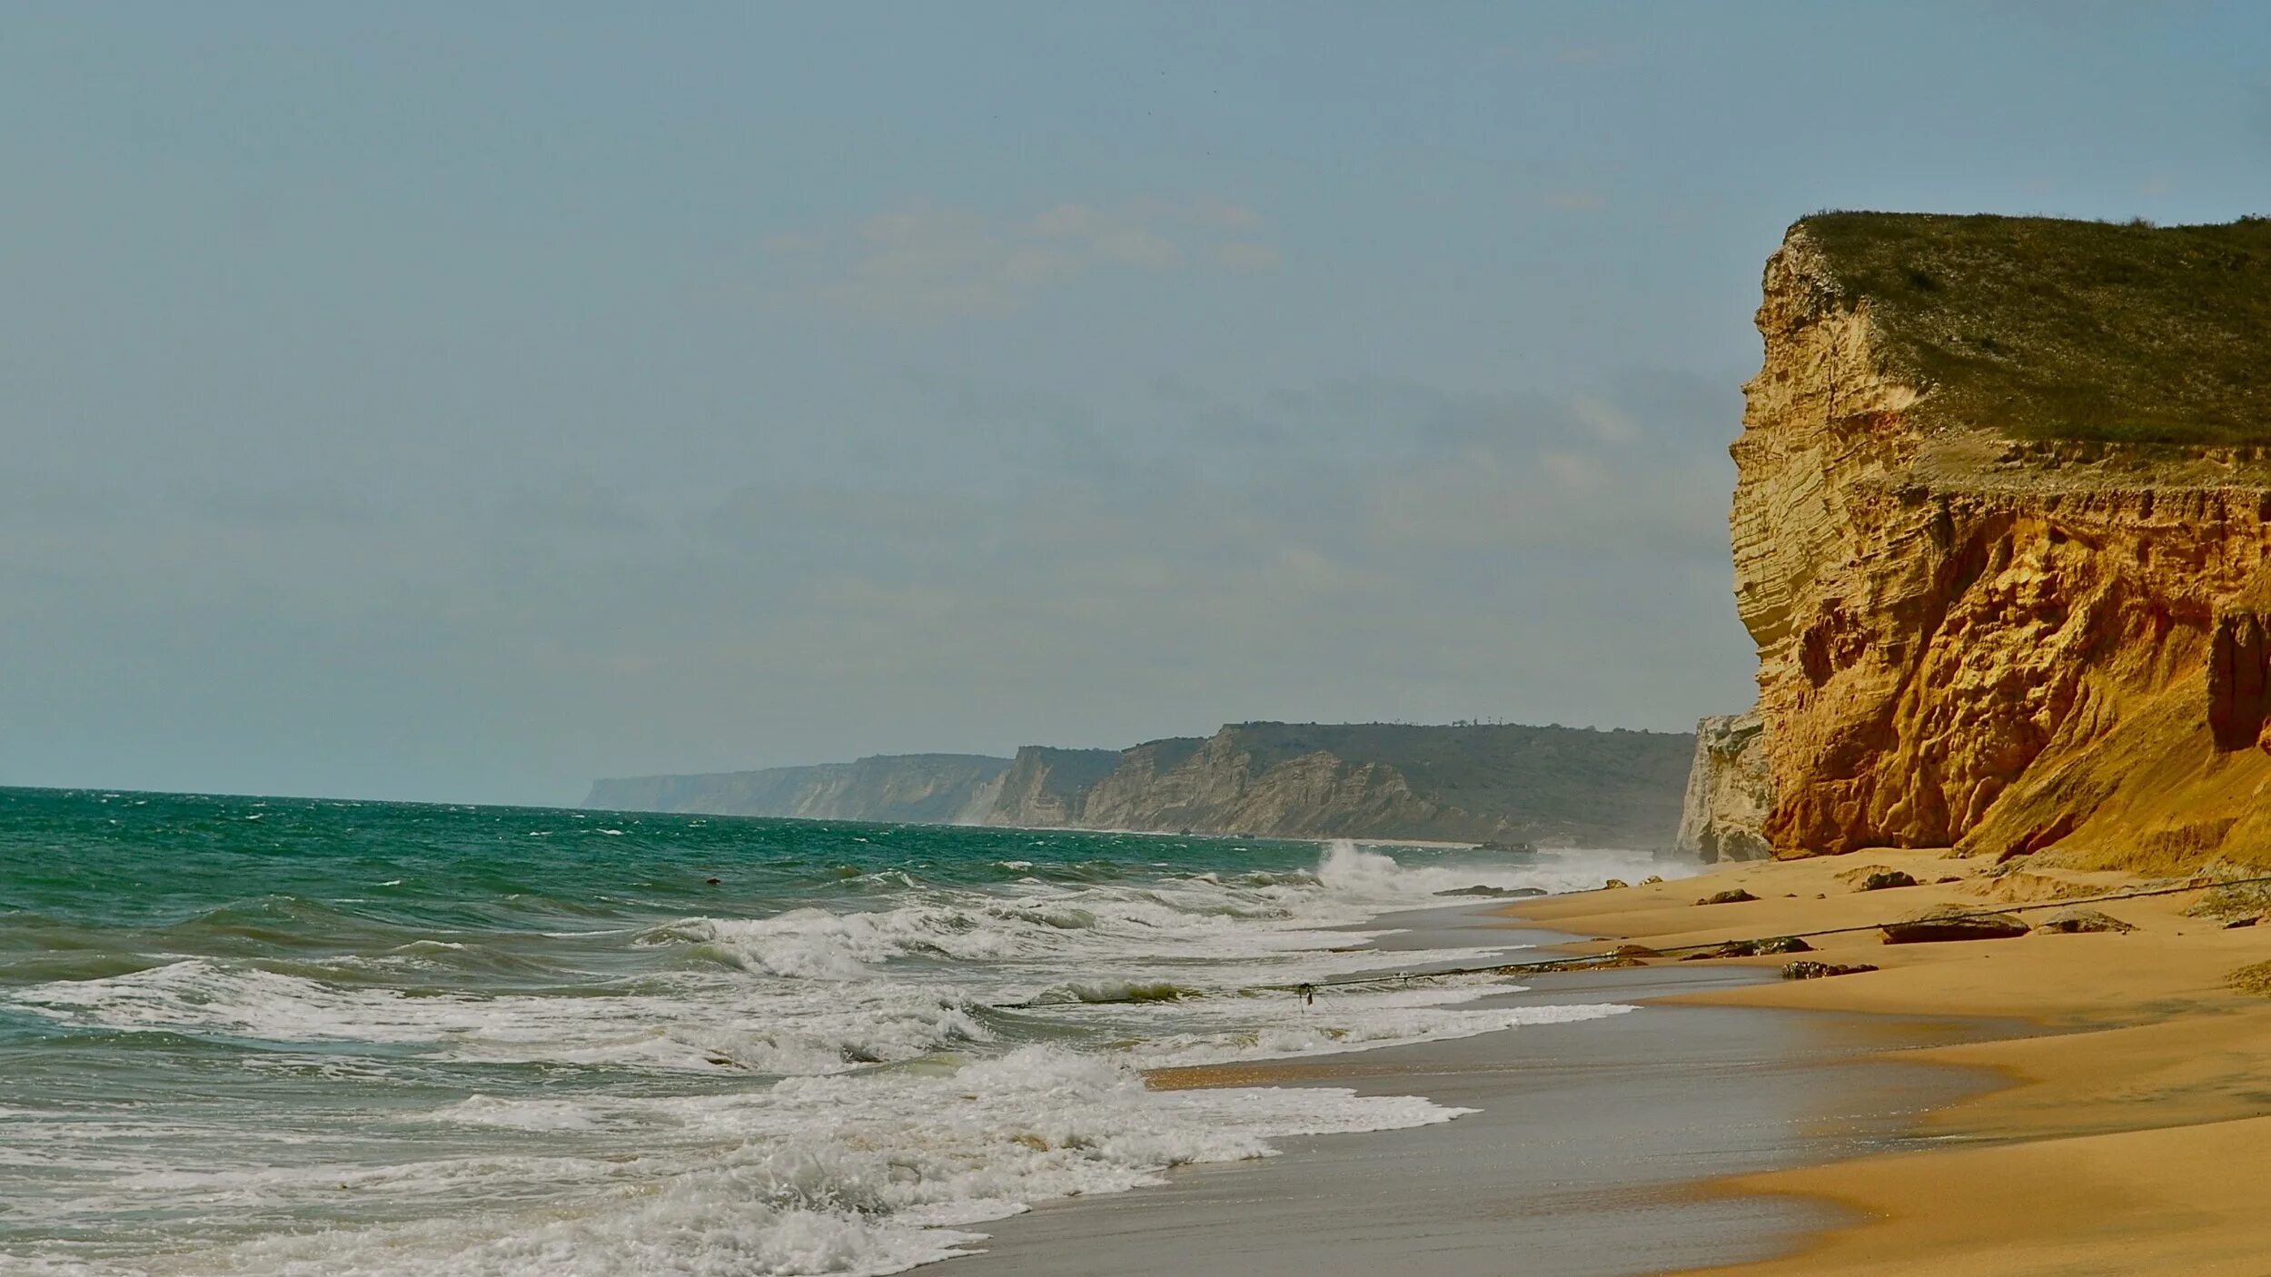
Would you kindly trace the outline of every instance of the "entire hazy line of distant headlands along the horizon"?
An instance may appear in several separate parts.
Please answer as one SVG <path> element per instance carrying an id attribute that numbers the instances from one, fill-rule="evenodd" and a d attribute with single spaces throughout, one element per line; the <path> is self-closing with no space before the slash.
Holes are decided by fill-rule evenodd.
<path id="1" fill-rule="evenodd" d="M 1026 745 L 602 779 L 586 807 L 802 820 L 1653 848 L 1692 734 L 1590 727 L 1231 723 L 1126 750 Z"/>

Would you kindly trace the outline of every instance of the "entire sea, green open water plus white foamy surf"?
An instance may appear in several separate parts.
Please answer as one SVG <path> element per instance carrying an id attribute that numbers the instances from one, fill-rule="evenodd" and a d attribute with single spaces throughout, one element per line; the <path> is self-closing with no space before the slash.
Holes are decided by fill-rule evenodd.
<path id="1" fill-rule="evenodd" d="M 1621 1013 L 1260 986 L 1410 963 L 1376 920 L 1444 888 L 1642 873 L 0 788 L 0 1272 L 899 1272 L 1049 1197 L 1453 1120 L 1142 1070 Z"/>

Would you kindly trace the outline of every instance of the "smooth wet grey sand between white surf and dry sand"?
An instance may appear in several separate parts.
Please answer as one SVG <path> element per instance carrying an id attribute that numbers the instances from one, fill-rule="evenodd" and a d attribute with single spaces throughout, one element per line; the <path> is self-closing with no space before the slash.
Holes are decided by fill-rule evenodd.
<path id="1" fill-rule="evenodd" d="M 1401 918 L 1397 950 L 1492 943 L 1503 902 Z M 1533 954 L 1512 954 L 1533 957 Z M 1413 952 L 1413 970 L 1424 959 Z M 1844 1218 L 1790 1195 L 1696 1182 L 1905 1147 L 1930 1104 L 1989 1086 L 1887 1045 L 1978 1025 L 1808 1016 L 1656 1000 L 1737 993 L 1767 975 L 1710 963 L 1535 975 L 1517 1002 L 1646 1002 L 1640 1011 L 1449 1043 L 1181 1070 L 1156 1084 L 1351 1086 L 1472 1107 L 1449 1125 L 1285 1141 L 1283 1154 L 1176 1170 L 1167 1186 L 1051 1202 L 990 1225 L 981 1275 L 1242 1272 L 1256 1277 L 1612 1277 L 1785 1254 Z"/>

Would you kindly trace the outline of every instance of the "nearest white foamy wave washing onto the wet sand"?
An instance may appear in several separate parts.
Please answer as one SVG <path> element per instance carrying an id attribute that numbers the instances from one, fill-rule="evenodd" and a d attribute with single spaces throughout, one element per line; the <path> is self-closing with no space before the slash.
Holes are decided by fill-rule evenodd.
<path id="1" fill-rule="evenodd" d="M 970 1254 L 972 1225 L 1070 1195 L 1158 1184 L 1174 1166 L 1272 1157 L 1304 1134 L 1403 1129 L 1465 1109 L 1347 1088 L 1149 1091 L 1124 1066 L 1020 1048 L 942 1075 L 813 1077 L 754 1095 L 677 1100 L 468 1100 L 436 1125 L 540 1136 L 615 1132 L 634 1161 L 484 1154 L 343 1179 L 359 1191 L 447 1195 L 459 1209 L 179 1254 L 184 1270 L 241 1275 L 561 1277 L 652 1272 L 827 1272 L 877 1277 Z M 693 1132 L 697 1138 L 684 1138 Z M 516 1207 L 543 1179 L 572 1209 Z M 213 1168 L 166 1188 L 293 1211 L 332 1182 L 270 1168 Z"/>

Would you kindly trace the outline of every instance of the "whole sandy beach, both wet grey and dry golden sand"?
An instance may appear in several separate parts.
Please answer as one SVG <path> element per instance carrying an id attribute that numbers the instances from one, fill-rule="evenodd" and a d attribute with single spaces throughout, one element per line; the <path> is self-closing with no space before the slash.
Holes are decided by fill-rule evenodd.
<path id="1" fill-rule="evenodd" d="M 1919 886 L 1860 891 L 1864 868 Z M 1329 1084 L 1478 1111 L 1047 1204 L 956 1270 L 1156 1272 L 1174 1238 L 1183 1268 L 1304 1277 L 2271 1272 L 2271 1000 L 2228 984 L 2271 959 L 2271 927 L 2187 916 L 2205 891 L 2178 891 L 2092 904 L 2132 932 L 2058 934 L 2039 923 L 2064 898 L 2180 882 L 1987 868 L 1894 850 L 1442 913 L 1442 934 L 1403 945 L 1497 916 L 1567 952 L 1667 952 L 1508 995 L 1610 995 L 1642 1004 L 1631 1016 L 1163 1072 L 1154 1086 Z M 1696 904 L 1733 888 L 1758 900 Z M 1874 927 L 1935 907 L 2017 907 L 2037 929 L 1887 945 Z M 1799 957 L 1878 970 L 1678 961 L 1805 932 L 1833 934 Z"/>

